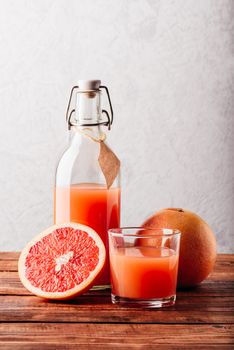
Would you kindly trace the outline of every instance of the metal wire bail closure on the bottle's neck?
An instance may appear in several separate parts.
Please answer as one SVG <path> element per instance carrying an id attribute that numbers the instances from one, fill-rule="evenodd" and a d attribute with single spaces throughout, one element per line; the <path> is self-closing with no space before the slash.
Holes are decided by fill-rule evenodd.
<path id="1" fill-rule="evenodd" d="M 68 101 L 68 106 L 67 106 L 67 111 L 66 111 L 66 122 L 68 123 L 68 129 L 69 130 L 71 129 L 72 126 L 77 126 L 77 124 L 73 124 L 72 121 L 71 121 L 72 115 L 73 115 L 73 113 L 75 113 L 75 108 L 71 109 L 71 105 L 72 105 L 72 102 L 73 102 L 74 93 L 78 89 L 79 89 L 78 85 L 73 86 L 73 88 L 71 89 L 70 97 L 69 97 L 69 101 Z M 107 94 L 111 116 L 109 115 L 107 110 L 102 109 L 102 114 L 105 114 L 105 116 L 107 118 L 106 121 L 99 122 L 99 123 L 92 123 L 92 124 L 83 124 L 82 123 L 82 124 L 79 124 L 80 126 L 104 125 L 104 126 L 108 127 L 108 130 L 111 129 L 111 125 L 113 124 L 113 119 L 114 119 L 114 113 L 113 113 L 113 108 L 112 108 L 112 104 L 111 104 L 111 99 L 110 99 L 110 94 L 109 94 L 108 88 L 106 86 L 104 86 L 104 85 L 101 85 L 98 90 L 93 90 L 93 91 L 97 92 L 97 91 L 101 91 L 101 89 L 104 89 L 106 94 Z"/>

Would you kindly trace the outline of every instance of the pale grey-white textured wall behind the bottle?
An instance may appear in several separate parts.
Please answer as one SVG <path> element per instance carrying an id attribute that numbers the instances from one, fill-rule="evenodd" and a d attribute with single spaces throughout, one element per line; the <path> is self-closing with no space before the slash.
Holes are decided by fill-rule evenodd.
<path id="1" fill-rule="evenodd" d="M 53 222 L 79 78 L 110 88 L 122 224 L 185 207 L 234 252 L 234 1 L 0 0 L 0 250 Z"/>

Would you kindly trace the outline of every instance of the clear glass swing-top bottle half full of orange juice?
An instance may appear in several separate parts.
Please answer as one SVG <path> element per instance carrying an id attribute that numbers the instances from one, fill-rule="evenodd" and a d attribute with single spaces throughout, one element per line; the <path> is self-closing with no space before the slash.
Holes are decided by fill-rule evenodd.
<path id="1" fill-rule="evenodd" d="M 101 108 L 102 91 L 107 93 L 109 113 Z M 70 112 L 73 98 L 75 108 Z M 103 121 L 105 115 L 107 120 Z M 107 188 L 98 162 L 102 127 L 110 129 L 113 121 L 108 89 L 100 80 L 80 80 L 73 87 L 67 110 L 70 142 L 57 167 L 54 194 L 55 224 L 78 222 L 92 227 L 107 250 L 105 266 L 96 281 L 96 288 L 110 284 L 108 229 L 120 226 L 120 174 Z"/>

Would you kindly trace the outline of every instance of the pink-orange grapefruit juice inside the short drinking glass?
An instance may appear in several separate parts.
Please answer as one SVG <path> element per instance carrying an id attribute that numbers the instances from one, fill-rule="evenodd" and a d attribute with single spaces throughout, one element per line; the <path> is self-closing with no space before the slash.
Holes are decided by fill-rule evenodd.
<path id="1" fill-rule="evenodd" d="M 110 254 L 112 293 L 131 299 L 176 294 L 178 256 L 169 248 L 118 248 Z"/>

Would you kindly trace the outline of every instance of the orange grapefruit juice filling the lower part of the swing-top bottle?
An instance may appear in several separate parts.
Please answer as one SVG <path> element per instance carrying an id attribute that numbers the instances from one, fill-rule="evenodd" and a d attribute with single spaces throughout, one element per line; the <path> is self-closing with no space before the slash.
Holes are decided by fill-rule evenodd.
<path id="1" fill-rule="evenodd" d="M 93 228 L 101 237 L 106 250 L 107 259 L 104 268 L 96 281 L 97 285 L 110 283 L 108 236 L 109 228 L 120 224 L 120 189 L 107 189 L 100 184 L 75 184 L 55 188 L 56 224 L 77 222 Z"/>

